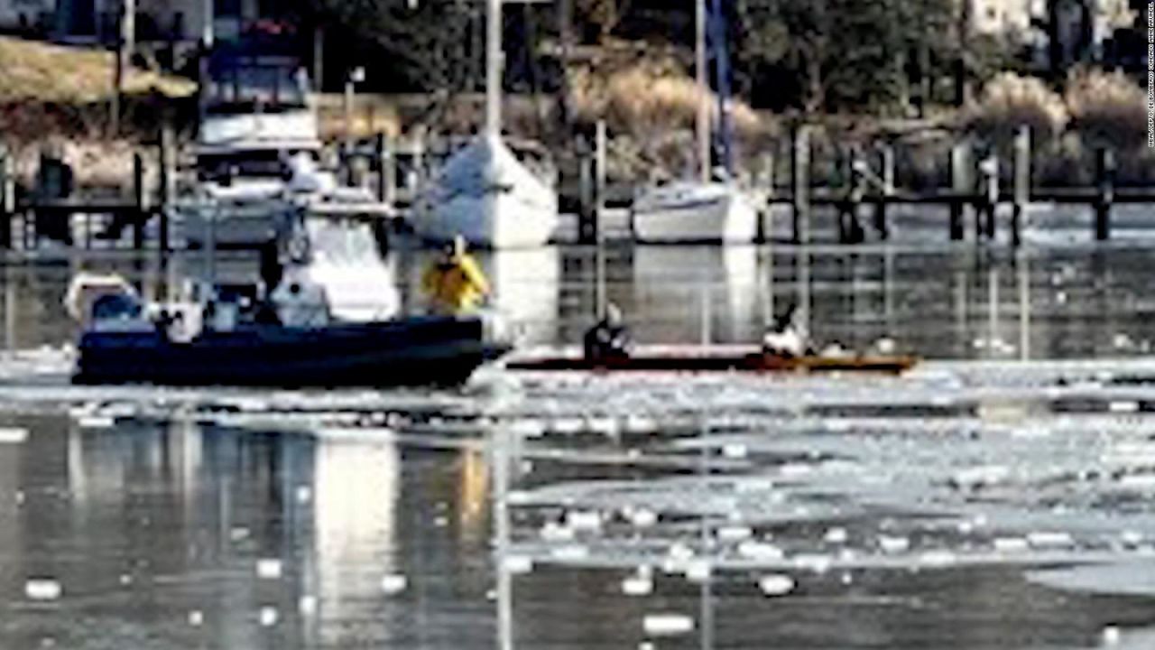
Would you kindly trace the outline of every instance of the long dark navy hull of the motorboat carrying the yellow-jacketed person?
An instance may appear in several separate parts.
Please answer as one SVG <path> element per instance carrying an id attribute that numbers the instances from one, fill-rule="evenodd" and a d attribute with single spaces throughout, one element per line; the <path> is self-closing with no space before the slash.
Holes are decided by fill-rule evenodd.
<path id="1" fill-rule="evenodd" d="M 189 342 L 158 332 L 88 332 L 77 384 L 244 386 L 459 385 L 508 352 L 480 319 L 411 318 L 318 330 L 244 326 Z"/>

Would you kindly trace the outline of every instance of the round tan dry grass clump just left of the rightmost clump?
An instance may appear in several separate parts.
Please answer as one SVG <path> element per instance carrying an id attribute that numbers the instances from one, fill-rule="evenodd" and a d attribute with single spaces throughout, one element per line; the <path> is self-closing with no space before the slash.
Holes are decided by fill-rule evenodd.
<path id="1" fill-rule="evenodd" d="M 994 142 L 1009 141 L 1019 126 L 1036 136 L 1053 138 L 1063 132 L 1070 116 L 1063 97 L 1040 79 L 1001 73 L 986 83 L 976 103 L 963 109 L 963 124 Z"/>

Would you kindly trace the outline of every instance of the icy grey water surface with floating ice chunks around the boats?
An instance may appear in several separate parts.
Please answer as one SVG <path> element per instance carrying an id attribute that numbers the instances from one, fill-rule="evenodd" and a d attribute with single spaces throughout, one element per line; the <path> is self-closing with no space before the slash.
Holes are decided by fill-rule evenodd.
<path id="1" fill-rule="evenodd" d="M 499 304 L 573 344 L 591 256 L 519 254 Z M 0 648 L 1150 648 L 1153 260 L 616 250 L 643 341 L 789 301 L 931 361 L 434 393 L 70 387 L 69 267 L 9 267 Z"/>

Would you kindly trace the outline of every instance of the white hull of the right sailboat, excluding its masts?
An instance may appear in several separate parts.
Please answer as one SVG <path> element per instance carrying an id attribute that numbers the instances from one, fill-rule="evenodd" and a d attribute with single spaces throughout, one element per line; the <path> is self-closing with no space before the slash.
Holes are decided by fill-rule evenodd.
<path id="1" fill-rule="evenodd" d="M 758 236 L 758 209 L 732 185 L 683 184 L 640 195 L 631 213 L 639 243 L 748 244 Z"/>

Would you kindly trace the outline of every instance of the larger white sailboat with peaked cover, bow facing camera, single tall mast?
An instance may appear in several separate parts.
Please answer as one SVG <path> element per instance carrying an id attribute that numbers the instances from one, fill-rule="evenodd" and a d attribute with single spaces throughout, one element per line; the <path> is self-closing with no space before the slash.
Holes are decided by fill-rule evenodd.
<path id="1" fill-rule="evenodd" d="M 412 226 L 424 239 L 462 236 L 489 249 L 534 248 L 558 227 L 558 194 L 501 136 L 501 3 L 489 0 L 485 131 L 454 153 L 417 202 Z"/>

